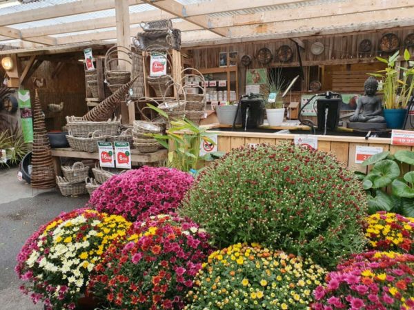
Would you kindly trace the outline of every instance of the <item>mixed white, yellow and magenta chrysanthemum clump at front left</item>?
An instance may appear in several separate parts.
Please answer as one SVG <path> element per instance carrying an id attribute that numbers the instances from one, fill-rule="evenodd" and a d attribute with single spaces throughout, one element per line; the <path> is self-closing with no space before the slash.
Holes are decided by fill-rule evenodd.
<path id="1" fill-rule="evenodd" d="M 61 214 L 40 227 L 17 256 L 21 287 L 46 309 L 75 309 L 90 271 L 113 239 L 124 236 L 132 223 L 90 209 Z"/>

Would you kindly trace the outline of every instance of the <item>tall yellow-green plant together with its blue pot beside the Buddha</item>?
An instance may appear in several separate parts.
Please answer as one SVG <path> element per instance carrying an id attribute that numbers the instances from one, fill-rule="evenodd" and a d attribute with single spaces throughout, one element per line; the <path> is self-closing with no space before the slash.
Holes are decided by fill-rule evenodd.
<path id="1" fill-rule="evenodd" d="M 404 51 L 404 61 L 408 61 L 408 68 L 397 65 L 400 59 L 400 52 L 384 59 L 377 57 L 377 60 L 386 63 L 385 70 L 380 70 L 369 75 L 381 79 L 382 92 L 384 93 L 384 117 L 386 125 L 390 129 L 402 128 L 404 118 L 407 114 L 407 105 L 414 88 L 414 61 L 410 61 L 411 54 Z M 400 75 L 402 77 L 400 78 Z"/>

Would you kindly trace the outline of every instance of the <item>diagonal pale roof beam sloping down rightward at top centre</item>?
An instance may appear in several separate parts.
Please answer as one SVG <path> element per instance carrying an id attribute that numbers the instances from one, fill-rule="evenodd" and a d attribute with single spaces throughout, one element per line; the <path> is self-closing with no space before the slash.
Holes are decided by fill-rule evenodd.
<path id="1" fill-rule="evenodd" d="M 186 21 L 190 21 L 190 23 L 194 23 L 195 25 L 198 25 L 201 28 L 210 30 L 211 32 L 214 32 L 215 34 L 219 34 L 221 37 L 227 36 L 228 29 L 220 29 L 220 30 L 210 29 L 208 17 L 206 16 L 189 17 L 186 11 L 186 7 L 175 0 L 161 0 L 161 1 L 156 1 L 156 2 L 152 0 L 143 0 L 143 1 L 145 3 L 150 4 L 151 6 L 154 6 L 155 8 L 159 8 L 160 10 L 164 10 L 170 14 L 174 14 L 176 17 L 185 19 Z M 204 6 L 205 5 L 206 3 L 204 3 Z"/>

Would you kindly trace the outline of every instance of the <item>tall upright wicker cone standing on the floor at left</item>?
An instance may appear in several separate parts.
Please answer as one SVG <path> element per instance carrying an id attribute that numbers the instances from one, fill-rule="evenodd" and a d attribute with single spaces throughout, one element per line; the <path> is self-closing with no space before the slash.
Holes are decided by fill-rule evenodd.
<path id="1" fill-rule="evenodd" d="M 39 94 L 34 99 L 33 108 L 33 151 L 32 176 L 30 185 L 48 189 L 56 186 L 50 143 L 46 132 L 45 116 L 41 110 Z"/>

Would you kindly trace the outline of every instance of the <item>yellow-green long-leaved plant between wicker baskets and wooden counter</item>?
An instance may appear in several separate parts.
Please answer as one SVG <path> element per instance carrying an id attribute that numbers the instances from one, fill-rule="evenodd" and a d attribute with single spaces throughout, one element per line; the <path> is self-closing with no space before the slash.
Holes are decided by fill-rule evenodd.
<path id="1" fill-rule="evenodd" d="M 150 104 L 148 106 L 168 118 L 168 114 L 164 111 Z M 171 121 L 171 125 L 172 127 L 166 135 L 151 135 L 168 149 L 168 167 L 184 172 L 195 172 L 199 169 L 202 161 L 213 161 L 224 155 L 223 152 L 212 152 L 200 156 L 201 141 L 215 145 L 215 142 L 208 137 L 210 134 L 206 131 L 206 128 L 199 127 L 186 118 Z"/>

